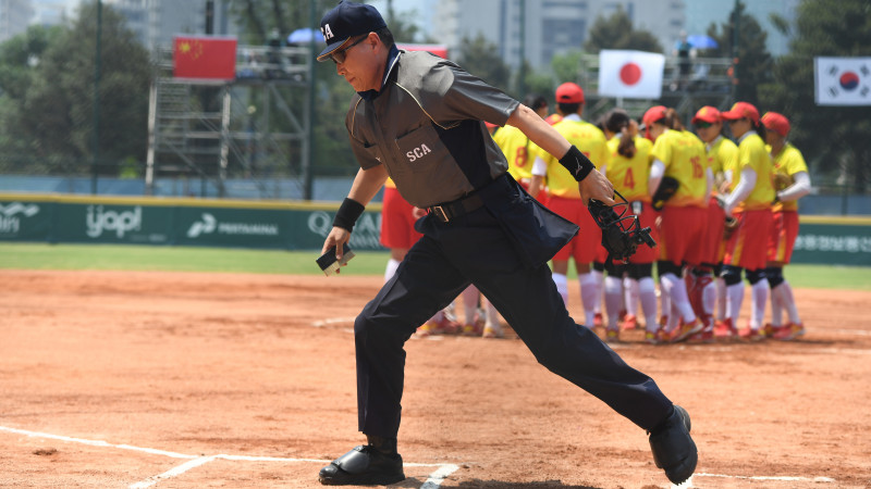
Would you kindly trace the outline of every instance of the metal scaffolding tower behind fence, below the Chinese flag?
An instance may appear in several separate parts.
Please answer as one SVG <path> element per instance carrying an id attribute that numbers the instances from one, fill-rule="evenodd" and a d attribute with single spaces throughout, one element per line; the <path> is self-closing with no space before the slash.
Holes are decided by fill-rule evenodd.
<path id="1" fill-rule="evenodd" d="M 156 179 L 174 177 L 198 179 L 204 189 L 213 185 L 226 197 L 228 178 L 242 177 L 261 198 L 280 198 L 267 184 L 282 176 L 298 181 L 310 198 L 309 48 L 240 46 L 237 53 L 236 78 L 216 82 L 173 77 L 172 50 L 158 50 L 148 111 L 148 195 Z"/>

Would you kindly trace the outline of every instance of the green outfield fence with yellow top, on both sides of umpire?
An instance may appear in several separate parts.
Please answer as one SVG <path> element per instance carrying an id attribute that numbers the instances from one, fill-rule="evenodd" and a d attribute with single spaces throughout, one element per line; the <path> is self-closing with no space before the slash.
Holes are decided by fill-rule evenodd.
<path id="1" fill-rule="evenodd" d="M 320 250 L 338 202 L 0 193 L 0 241 Z M 382 250 L 381 205 L 351 246 Z M 794 263 L 871 266 L 871 217 L 802 216 Z"/>

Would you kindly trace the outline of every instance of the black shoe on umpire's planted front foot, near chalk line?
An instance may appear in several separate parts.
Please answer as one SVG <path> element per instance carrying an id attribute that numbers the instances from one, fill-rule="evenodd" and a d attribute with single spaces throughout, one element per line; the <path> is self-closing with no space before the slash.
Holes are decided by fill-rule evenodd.
<path id="1" fill-rule="evenodd" d="M 321 468 L 318 479 L 324 486 L 385 486 L 404 480 L 405 474 L 398 453 L 387 454 L 361 444 Z"/>

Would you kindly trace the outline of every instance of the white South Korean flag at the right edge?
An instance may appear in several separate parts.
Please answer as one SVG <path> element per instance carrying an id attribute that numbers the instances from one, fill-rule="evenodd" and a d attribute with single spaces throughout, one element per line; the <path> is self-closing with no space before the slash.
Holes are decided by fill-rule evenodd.
<path id="1" fill-rule="evenodd" d="M 871 105 L 871 58 L 814 58 L 818 105 Z"/>

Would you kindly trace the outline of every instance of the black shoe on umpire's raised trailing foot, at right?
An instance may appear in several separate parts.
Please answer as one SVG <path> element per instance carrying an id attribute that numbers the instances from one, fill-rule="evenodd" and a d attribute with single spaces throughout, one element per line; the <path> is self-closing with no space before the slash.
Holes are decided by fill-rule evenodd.
<path id="1" fill-rule="evenodd" d="M 689 436 L 689 414 L 679 405 L 653 431 L 650 431 L 650 450 L 657 467 L 665 471 L 672 484 L 682 484 L 696 471 L 699 452 Z"/>

